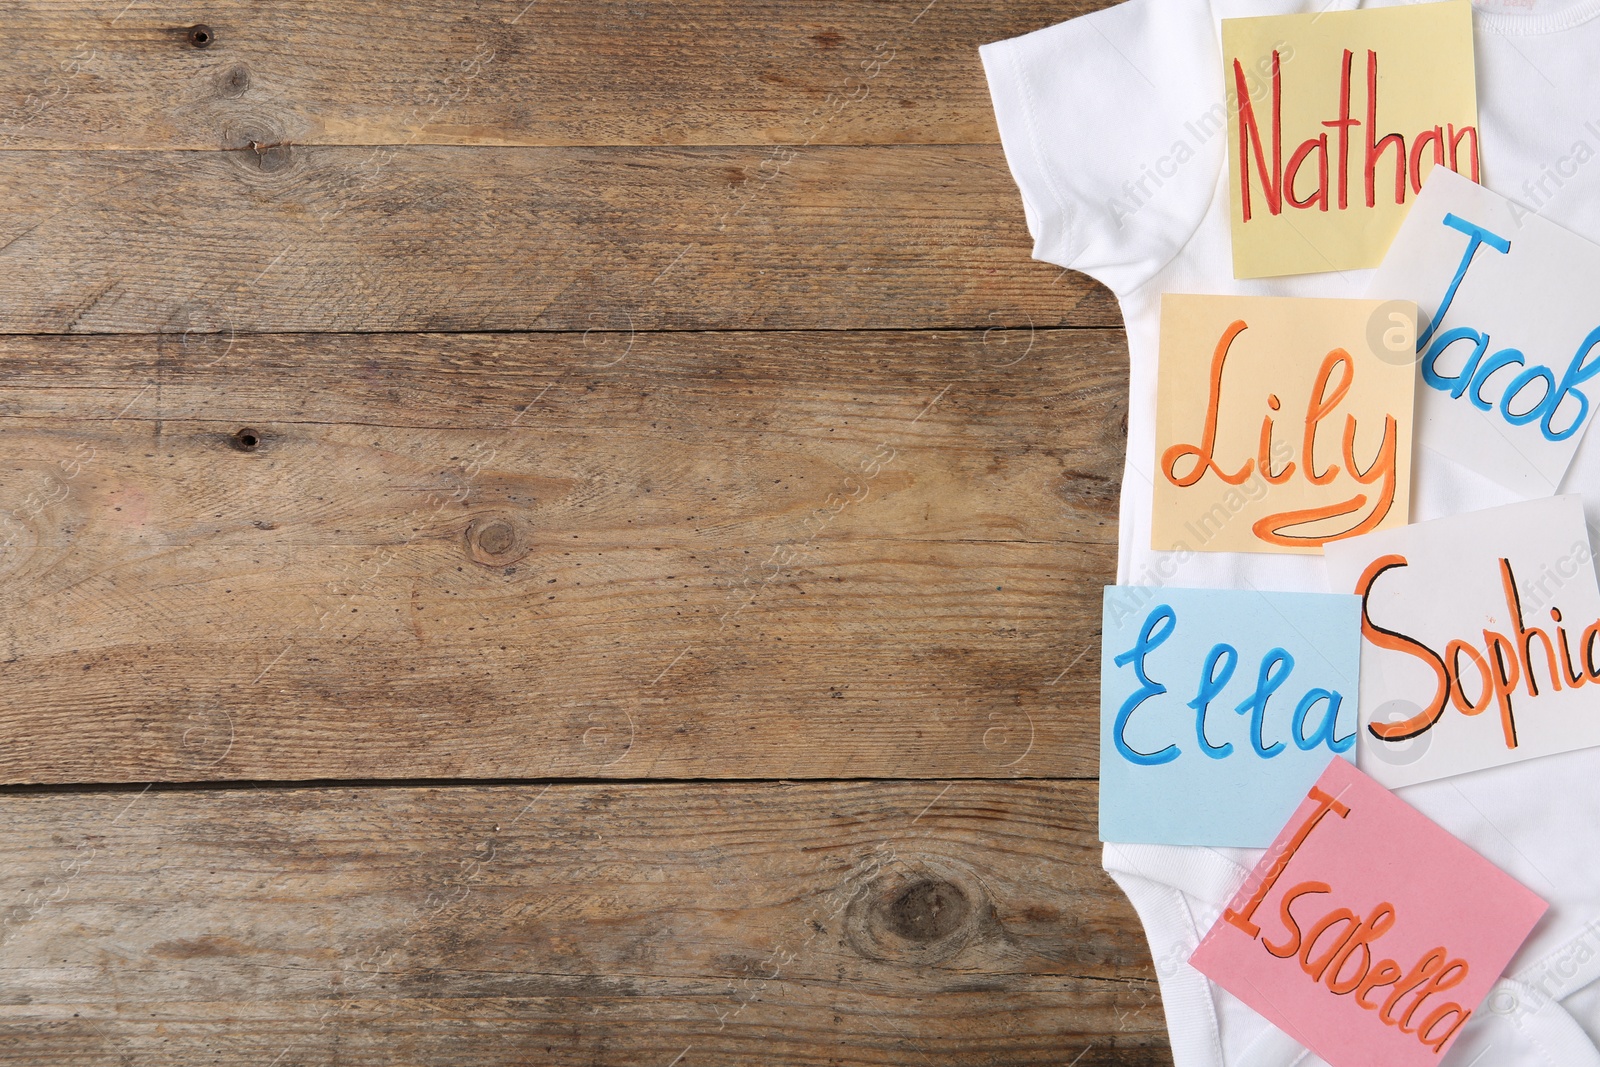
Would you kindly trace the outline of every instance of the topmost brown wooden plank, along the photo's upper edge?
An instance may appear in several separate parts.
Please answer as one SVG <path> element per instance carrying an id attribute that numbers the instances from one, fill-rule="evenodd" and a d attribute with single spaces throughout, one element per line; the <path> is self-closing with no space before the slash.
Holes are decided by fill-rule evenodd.
<path id="1" fill-rule="evenodd" d="M 978 46 L 1104 3 L 29 3 L 0 144 L 995 142 Z"/>

